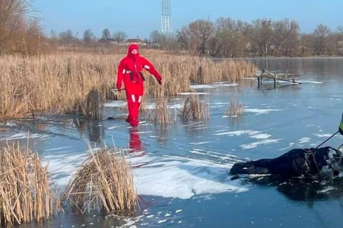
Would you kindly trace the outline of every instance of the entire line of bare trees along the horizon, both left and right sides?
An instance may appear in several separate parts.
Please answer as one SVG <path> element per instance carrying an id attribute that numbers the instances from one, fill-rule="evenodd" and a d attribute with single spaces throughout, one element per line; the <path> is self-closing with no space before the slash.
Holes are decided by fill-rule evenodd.
<path id="1" fill-rule="evenodd" d="M 33 0 L 0 0 L 0 53 L 38 53 L 49 48 L 51 43 L 94 43 L 98 38 L 91 29 L 82 34 L 72 30 L 51 30 L 45 35 L 35 18 Z M 101 39 L 123 42 L 125 32 L 111 34 L 108 28 L 102 31 Z M 254 56 L 325 56 L 343 55 L 343 27 L 332 31 L 319 24 L 312 32 L 301 32 L 297 21 L 283 19 L 257 19 L 251 22 L 218 18 L 216 21 L 196 20 L 183 26 L 173 34 L 162 34 L 154 30 L 147 45 L 168 50 L 182 50 L 191 55 L 210 57 L 254 57 Z"/>

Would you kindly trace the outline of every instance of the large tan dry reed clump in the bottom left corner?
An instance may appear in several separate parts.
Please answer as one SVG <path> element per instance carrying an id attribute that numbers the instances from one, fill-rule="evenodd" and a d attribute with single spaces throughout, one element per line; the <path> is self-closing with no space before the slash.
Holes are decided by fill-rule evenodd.
<path id="1" fill-rule="evenodd" d="M 60 201 L 49 187 L 48 167 L 36 152 L 7 144 L 0 148 L 0 224 L 42 221 L 55 215 Z"/>

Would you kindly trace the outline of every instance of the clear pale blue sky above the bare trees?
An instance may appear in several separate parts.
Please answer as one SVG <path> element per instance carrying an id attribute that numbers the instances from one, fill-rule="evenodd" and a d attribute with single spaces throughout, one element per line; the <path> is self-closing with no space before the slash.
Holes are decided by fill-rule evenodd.
<path id="1" fill-rule="evenodd" d="M 36 2 L 46 34 L 67 29 L 92 29 L 97 37 L 104 28 L 122 30 L 129 37 L 148 38 L 161 28 L 161 0 L 38 0 Z M 257 18 L 298 21 L 302 32 L 319 23 L 335 31 L 343 25 L 343 0 L 171 0 L 173 30 L 197 19 L 219 17 L 252 21 Z"/>

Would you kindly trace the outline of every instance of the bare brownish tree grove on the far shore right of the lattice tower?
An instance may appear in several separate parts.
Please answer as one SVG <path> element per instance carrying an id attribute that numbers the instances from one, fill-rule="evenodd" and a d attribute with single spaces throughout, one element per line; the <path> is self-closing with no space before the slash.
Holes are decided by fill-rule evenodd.
<path id="1" fill-rule="evenodd" d="M 153 31 L 150 39 L 164 48 L 211 57 L 343 55 L 342 26 L 331 31 L 319 24 L 313 32 L 301 33 L 299 24 L 288 18 L 250 23 L 231 18 L 196 20 L 169 36 Z"/>

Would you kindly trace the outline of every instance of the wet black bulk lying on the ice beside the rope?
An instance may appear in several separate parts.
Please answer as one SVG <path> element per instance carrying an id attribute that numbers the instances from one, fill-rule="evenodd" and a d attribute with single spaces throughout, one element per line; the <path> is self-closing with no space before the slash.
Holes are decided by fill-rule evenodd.
<path id="1" fill-rule="evenodd" d="M 230 170 L 236 174 L 272 174 L 283 177 L 333 178 L 343 171 L 342 153 L 330 146 L 318 149 L 292 149 L 273 159 L 236 163 Z"/>

